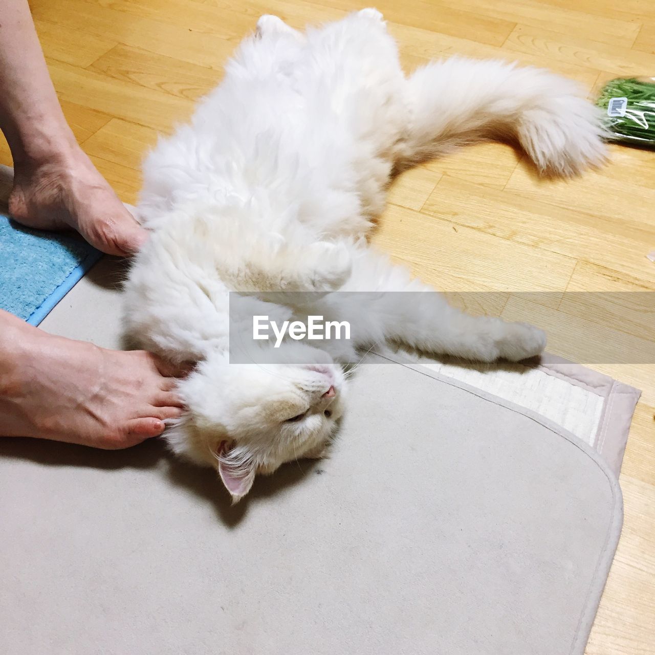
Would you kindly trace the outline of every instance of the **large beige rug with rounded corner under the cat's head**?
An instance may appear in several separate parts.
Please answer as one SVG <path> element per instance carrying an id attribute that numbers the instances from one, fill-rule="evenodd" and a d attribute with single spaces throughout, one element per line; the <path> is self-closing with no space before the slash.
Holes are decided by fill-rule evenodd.
<path id="1" fill-rule="evenodd" d="M 113 345 L 106 266 L 43 327 Z M 639 392 L 554 360 L 426 363 L 369 354 L 331 458 L 234 508 L 154 440 L 0 443 L 0 652 L 584 652 Z"/>

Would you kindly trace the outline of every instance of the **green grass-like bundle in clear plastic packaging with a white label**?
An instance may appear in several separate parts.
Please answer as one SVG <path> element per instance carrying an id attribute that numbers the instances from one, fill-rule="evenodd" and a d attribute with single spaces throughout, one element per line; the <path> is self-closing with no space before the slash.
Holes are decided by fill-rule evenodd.
<path id="1" fill-rule="evenodd" d="M 607 113 L 610 139 L 655 148 L 655 77 L 614 79 L 596 104 Z"/>

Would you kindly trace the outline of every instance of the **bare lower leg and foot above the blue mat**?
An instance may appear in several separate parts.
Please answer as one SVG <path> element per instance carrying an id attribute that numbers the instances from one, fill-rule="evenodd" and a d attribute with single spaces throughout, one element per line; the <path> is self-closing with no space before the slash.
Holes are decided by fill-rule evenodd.
<path id="1" fill-rule="evenodd" d="M 75 229 L 111 255 L 135 252 L 147 234 L 77 145 L 28 0 L 1 6 L 0 130 L 14 160 L 10 213 L 28 227 Z"/>

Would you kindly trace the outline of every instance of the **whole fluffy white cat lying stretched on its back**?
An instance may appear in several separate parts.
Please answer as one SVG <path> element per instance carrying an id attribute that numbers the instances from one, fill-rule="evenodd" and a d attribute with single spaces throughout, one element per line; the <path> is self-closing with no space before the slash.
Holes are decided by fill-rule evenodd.
<path id="1" fill-rule="evenodd" d="M 541 352 L 542 331 L 462 314 L 365 242 L 394 170 L 494 136 L 563 176 L 605 155 L 595 108 L 548 71 L 451 58 L 405 78 L 375 9 L 307 33 L 262 16 L 191 124 L 144 165 L 138 215 L 151 237 L 126 284 L 126 328 L 198 362 L 179 384 L 188 411 L 166 433 L 172 449 L 215 466 L 238 500 L 256 472 L 320 457 L 343 413 L 352 347 L 286 341 L 277 364 L 271 353 L 230 364 L 229 291 L 322 291 L 314 309 L 347 314 L 355 346 L 394 339 L 484 361 Z M 362 307 L 336 290 L 430 293 Z M 292 299 L 240 302 L 246 315 L 257 303 L 281 319 L 309 312 Z"/>

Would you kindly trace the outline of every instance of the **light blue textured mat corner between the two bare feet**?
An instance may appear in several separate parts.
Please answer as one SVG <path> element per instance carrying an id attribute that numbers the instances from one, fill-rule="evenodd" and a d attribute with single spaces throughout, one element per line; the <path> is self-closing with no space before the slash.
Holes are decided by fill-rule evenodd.
<path id="1" fill-rule="evenodd" d="M 0 309 L 39 325 L 100 257 L 77 234 L 30 230 L 0 214 Z"/>

